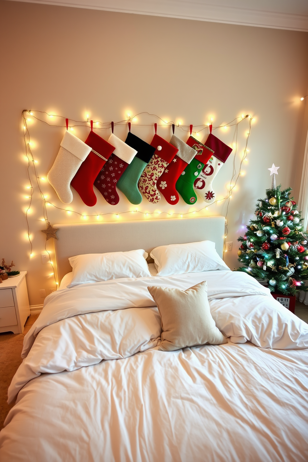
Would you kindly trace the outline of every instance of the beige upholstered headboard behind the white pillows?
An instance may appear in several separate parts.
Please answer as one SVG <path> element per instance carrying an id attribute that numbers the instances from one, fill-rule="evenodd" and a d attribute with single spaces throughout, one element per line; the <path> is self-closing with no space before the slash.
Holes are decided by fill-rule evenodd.
<path id="1" fill-rule="evenodd" d="M 222 257 L 224 225 L 222 216 L 54 225 L 59 228 L 54 241 L 59 281 L 72 271 L 68 258 L 74 255 L 134 249 L 150 254 L 158 245 L 209 240 Z"/>

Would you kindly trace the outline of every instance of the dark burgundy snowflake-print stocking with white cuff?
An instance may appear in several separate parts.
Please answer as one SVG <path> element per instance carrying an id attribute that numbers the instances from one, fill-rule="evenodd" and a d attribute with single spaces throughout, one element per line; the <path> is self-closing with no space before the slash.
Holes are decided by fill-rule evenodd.
<path id="1" fill-rule="evenodd" d="M 97 175 L 94 186 L 97 187 L 110 205 L 116 205 L 120 198 L 116 192 L 115 186 L 120 176 L 127 169 L 127 166 L 132 162 L 137 151 L 114 134 L 109 136 L 108 142 L 112 146 L 115 146 L 115 150 Z"/>

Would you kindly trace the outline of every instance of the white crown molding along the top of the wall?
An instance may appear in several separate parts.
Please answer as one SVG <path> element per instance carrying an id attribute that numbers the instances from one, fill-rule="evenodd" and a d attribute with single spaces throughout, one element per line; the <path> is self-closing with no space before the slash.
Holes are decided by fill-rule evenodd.
<path id="1" fill-rule="evenodd" d="M 187 0 L 12 0 L 122 13 L 308 31 L 308 15 L 222 6 Z M 215 1 L 215 0 L 212 0 Z M 270 2 L 269 2 L 270 4 Z"/>

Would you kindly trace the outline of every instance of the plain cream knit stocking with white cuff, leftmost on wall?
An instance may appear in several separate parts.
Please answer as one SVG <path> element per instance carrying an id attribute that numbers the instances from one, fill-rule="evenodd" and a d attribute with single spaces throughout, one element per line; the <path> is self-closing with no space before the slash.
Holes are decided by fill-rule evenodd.
<path id="1" fill-rule="evenodd" d="M 60 143 L 60 150 L 54 165 L 48 172 L 47 179 L 54 188 L 61 202 L 72 202 L 70 184 L 82 162 L 91 151 L 91 147 L 79 140 L 77 136 L 66 131 Z"/>

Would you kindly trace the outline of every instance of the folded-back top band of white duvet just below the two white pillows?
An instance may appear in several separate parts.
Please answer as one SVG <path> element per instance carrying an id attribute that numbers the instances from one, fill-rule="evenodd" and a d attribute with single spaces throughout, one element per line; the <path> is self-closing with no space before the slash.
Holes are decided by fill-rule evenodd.
<path id="1" fill-rule="evenodd" d="M 204 273 L 177 274 L 175 276 L 149 276 L 145 278 L 121 278 L 82 284 L 53 292 L 45 298 L 42 313 L 24 337 L 22 358 L 30 351 L 36 335 L 42 328 L 70 316 L 106 310 L 123 310 L 153 306 L 148 286 L 164 286 L 186 290 L 207 281 L 208 299 L 266 295 L 269 289 L 261 286 L 246 273 L 232 271 L 206 271 Z"/>

